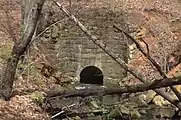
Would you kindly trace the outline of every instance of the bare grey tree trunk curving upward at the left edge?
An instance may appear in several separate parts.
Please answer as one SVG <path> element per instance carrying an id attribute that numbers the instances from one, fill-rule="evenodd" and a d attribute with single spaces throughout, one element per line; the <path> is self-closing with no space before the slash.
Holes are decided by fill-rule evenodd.
<path id="1" fill-rule="evenodd" d="M 0 81 L 0 97 L 8 100 L 11 96 L 16 67 L 20 56 L 26 51 L 33 34 L 45 0 L 23 0 L 21 38 L 13 46 L 11 57 L 7 61 L 4 75 Z"/>

